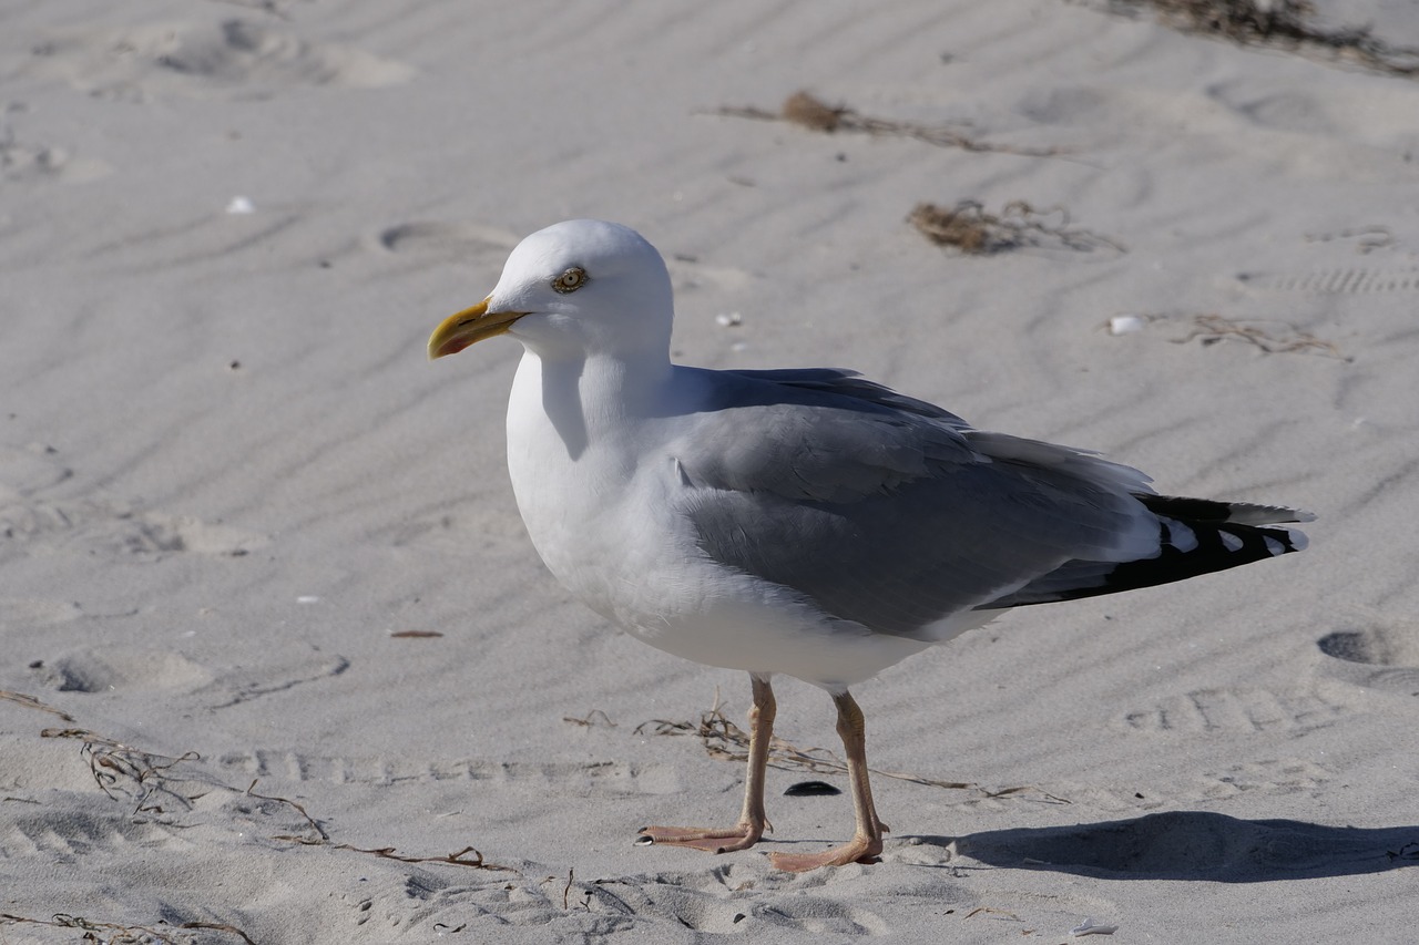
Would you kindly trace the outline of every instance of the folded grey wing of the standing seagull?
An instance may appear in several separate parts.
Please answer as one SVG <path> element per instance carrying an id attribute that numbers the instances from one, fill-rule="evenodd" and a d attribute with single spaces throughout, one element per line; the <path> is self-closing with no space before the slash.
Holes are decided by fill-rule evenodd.
<path id="1" fill-rule="evenodd" d="M 1064 562 L 1156 553 L 1137 470 L 972 430 L 847 372 L 705 377 L 674 457 L 701 549 L 834 617 L 929 640 Z"/>

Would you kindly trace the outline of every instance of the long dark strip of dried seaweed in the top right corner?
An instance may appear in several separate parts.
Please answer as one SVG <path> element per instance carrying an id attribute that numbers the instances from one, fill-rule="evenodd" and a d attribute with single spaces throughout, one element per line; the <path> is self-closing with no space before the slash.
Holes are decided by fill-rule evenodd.
<path id="1" fill-rule="evenodd" d="M 1419 50 L 1389 45 L 1369 27 L 1325 28 L 1314 23 L 1310 0 L 1111 0 L 1110 9 L 1154 10 L 1186 33 L 1233 43 L 1327 52 L 1392 75 L 1419 75 Z"/>

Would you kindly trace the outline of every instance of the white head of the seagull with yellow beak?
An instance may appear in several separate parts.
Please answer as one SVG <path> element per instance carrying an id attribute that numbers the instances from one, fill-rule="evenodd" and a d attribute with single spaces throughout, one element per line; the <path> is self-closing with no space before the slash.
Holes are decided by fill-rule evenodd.
<path id="1" fill-rule="evenodd" d="M 668 359 L 673 316 L 656 247 L 619 223 L 568 220 L 522 240 L 488 298 L 438 325 L 429 356 L 505 333 L 542 358 Z"/>

